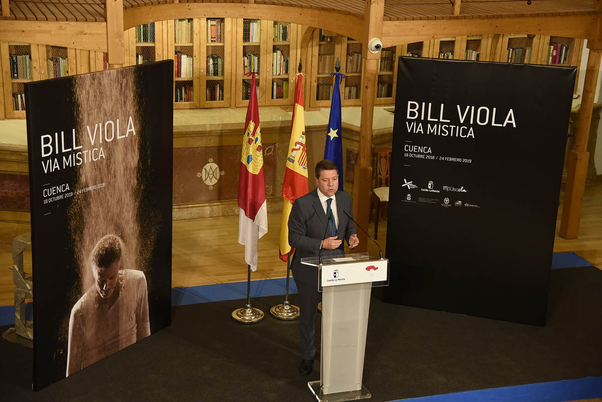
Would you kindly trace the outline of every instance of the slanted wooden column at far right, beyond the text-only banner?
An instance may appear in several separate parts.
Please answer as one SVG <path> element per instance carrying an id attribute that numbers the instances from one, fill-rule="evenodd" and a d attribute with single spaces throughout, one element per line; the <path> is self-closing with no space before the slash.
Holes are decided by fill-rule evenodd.
<path id="1" fill-rule="evenodd" d="M 569 154 L 568 175 L 566 176 L 565 196 L 562 205 L 562 220 L 560 220 L 560 236 L 565 239 L 576 239 L 577 235 L 579 235 L 583 192 L 585 191 L 585 179 L 588 173 L 589 152 L 587 149 L 589 126 L 592 121 L 596 81 L 598 79 L 598 71 L 600 70 L 600 57 L 602 56 L 602 50 L 598 50 L 600 46 L 596 46 L 598 49 L 594 49 L 597 42 L 593 41 L 591 43 L 591 41 L 588 41 L 588 67 L 585 70 L 583 100 L 579 111 L 574 147 Z M 592 47 L 590 47 L 591 45 Z"/>

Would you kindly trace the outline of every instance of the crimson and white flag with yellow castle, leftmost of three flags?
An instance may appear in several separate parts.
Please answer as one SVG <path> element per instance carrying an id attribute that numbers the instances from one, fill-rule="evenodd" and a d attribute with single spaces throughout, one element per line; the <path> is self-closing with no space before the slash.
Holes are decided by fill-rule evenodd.
<path id="1" fill-rule="evenodd" d="M 253 79 L 244 123 L 243 152 L 238 179 L 238 243 L 244 244 L 244 261 L 255 271 L 258 240 L 267 233 L 267 207 L 255 73 L 248 75 L 252 75 Z"/>

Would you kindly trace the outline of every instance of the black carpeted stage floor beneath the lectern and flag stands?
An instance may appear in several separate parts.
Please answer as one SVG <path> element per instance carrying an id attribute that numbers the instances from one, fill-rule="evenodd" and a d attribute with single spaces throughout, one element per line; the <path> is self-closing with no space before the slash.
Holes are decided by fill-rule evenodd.
<path id="1" fill-rule="evenodd" d="M 553 270 L 543 328 L 372 298 L 364 366 L 371 401 L 601 376 L 601 289 L 595 267 Z M 253 306 L 269 314 L 282 300 Z M 37 393 L 29 391 L 31 349 L 0 339 L 0 400 L 311 401 L 306 383 L 320 378 L 320 362 L 311 376 L 297 373 L 297 323 L 266 317 L 244 326 L 231 318 L 242 305 L 174 307 L 171 327 Z"/>

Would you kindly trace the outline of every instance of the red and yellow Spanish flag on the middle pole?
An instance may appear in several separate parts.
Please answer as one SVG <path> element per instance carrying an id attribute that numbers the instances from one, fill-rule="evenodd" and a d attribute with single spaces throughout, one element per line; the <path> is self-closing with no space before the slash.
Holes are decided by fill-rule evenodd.
<path id="1" fill-rule="evenodd" d="M 308 193 L 307 151 L 305 139 L 305 112 L 303 111 L 303 76 L 297 74 L 291 139 L 288 143 L 287 167 L 282 184 L 282 224 L 280 228 L 280 259 L 288 259 L 291 246 L 288 244 L 288 216 L 293 202 Z M 294 251 L 294 250 L 293 250 Z"/>

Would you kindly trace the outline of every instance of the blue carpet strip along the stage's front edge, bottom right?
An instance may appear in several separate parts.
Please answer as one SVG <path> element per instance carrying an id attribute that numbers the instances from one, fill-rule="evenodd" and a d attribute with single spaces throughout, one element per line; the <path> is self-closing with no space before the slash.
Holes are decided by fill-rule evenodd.
<path id="1" fill-rule="evenodd" d="M 602 397 L 602 377 L 404 399 L 405 402 L 564 402 Z M 399 400 L 401 401 L 401 400 Z M 399 402 L 393 401 L 393 402 Z"/>

